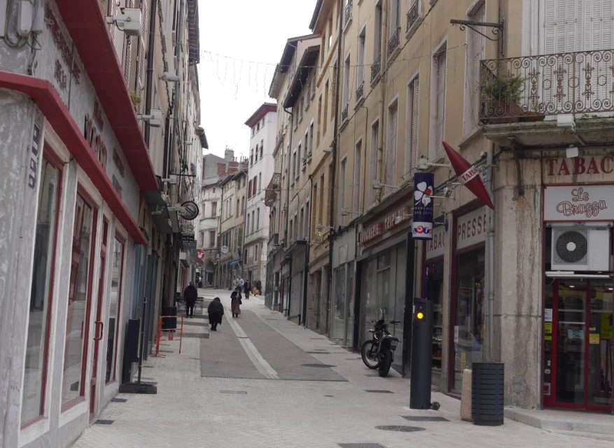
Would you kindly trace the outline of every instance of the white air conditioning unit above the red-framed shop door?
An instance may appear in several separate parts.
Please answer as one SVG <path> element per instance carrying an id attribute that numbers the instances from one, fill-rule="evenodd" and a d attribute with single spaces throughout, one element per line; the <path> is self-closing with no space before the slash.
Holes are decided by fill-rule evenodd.
<path id="1" fill-rule="evenodd" d="M 607 228 L 552 228 L 551 269 L 609 271 L 610 230 Z"/>

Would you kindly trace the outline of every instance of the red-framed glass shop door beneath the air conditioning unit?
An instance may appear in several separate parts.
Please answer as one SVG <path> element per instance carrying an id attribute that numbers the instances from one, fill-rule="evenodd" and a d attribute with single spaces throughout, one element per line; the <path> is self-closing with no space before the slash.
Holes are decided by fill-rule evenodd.
<path id="1" fill-rule="evenodd" d="M 555 279 L 544 313 L 544 405 L 610 412 L 610 279 Z"/>

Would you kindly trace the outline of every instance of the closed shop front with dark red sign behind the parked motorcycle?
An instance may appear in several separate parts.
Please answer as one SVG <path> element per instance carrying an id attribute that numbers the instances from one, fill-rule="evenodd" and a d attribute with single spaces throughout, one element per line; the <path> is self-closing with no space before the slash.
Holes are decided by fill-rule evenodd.
<path id="1" fill-rule="evenodd" d="M 370 337 L 368 330 L 383 318 L 398 321 L 389 331 L 399 339 L 392 367 L 409 372 L 410 328 L 413 290 L 414 241 L 410 237 L 411 208 L 397 204 L 363 225 L 360 236 L 356 297 L 359 318 L 354 327 L 354 349 Z M 405 313 L 407 310 L 407 316 Z M 409 321 L 406 321 L 408 318 Z"/>

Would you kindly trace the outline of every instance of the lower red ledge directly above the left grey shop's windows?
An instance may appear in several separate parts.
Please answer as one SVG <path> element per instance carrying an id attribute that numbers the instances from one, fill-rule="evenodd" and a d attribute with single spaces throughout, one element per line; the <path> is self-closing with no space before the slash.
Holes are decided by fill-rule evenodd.
<path id="1" fill-rule="evenodd" d="M 83 137 L 79 127 L 70 116 L 55 87 L 46 80 L 7 73 L 6 71 L 0 71 L 0 87 L 18 90 L 34 99 L 36 105 L 39 106 L 39 109 L 41 109 L 53 127 L 53 130 L 64 141 L 71 155 L 73 155 L 79 166 L 85 171 L 85 174 L 90 177 L 94 186 L 109 204 L 109 208 L 118 217 L 120 223 L 130 233 L 134 242 L 137 244 L 147 244 L 147 240 L 141 232 L 137 221 L 134 221 L 134 217 L 130 214 L 122 198 L 113 187 L 109 176 L 106 175 L 104 168 L 90 149 L 88 142 L 85 141 L 85 137 Z M 149 160 L 148 156 L 144 160 Z M 151 188 L 151 190 L 158 190 L 158 188 Z"/>

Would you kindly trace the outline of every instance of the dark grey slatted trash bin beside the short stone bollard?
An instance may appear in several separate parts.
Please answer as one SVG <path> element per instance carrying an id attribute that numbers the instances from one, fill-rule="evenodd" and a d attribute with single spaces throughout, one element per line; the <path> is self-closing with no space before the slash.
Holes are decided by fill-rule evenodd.
<path id="1" fill-rule="evenodd" d="M 473 424 L 503 425 L 503 363 L 473 363 L 472 370 Z"/>

